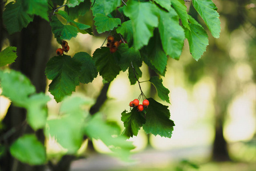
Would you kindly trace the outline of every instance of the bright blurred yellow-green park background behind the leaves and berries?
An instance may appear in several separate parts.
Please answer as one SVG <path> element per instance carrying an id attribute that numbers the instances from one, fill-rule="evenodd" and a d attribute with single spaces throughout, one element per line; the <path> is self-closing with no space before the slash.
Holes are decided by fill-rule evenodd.
<path id="1" fill-rule="evenodd" d="M 220 38 L 214 39 L 208 32 L 209 46 L 198 62 L 190 55 L 186 40 L 180 60 L 169 58 L 162 83 L 170 90 L 171 104 L 163 103 L 149 82 L 141 83 L 147 97 L 169 106 L 170 119 L 176 125 L 172 138 L 140 130 L 129 139 L 136 146 L 131 162 L 108 156 L 109 149 L 101 141 L 85 141 L 79 150 L 82 158 L 72 162 L 71 170 L 256 170 L 256 1 L 213 2 L 220 13 Z M 189 14 L 208 31 L 191 3 L 186 5 Z M 78 21 L 92 25 L 91 18 L 88 11 Z M 92 55 L 108 34 L 95 35 L 79 34 L 68 41 L 68 55 L 79 51 Z M 6 39 L 3 48 L 9 45 Z M 50 56 L 55 56 L 56 48 L 59 44 L 52 36 Z M 155 74 L 146 64 L 141 71 L 140 81 Z M 140 95 L 139 85 L 130 85 L 128 72 L 120 72 L 105 85 L 98 75 L 92 83 L 80 84 L 75 93 L 95 100 L 106 93 L 100 112 L 123 130 L 121 112 L 129 110 L 129 101 Z M 1 119 L 6 113 L 4 105 L 10 102 L 1 96 Z M 55 100 L 48 103 L 50 116 L 58 113 L 59 105 Z M 46 145 L 52 161 L 65 153 L 54 139 L 46 140 Z"/>

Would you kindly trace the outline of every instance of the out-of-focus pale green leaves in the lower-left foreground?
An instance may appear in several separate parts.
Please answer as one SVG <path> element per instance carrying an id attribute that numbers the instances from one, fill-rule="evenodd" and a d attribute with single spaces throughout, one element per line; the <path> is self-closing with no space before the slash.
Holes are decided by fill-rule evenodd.
<path id="1" fill-rule="evenodd" d="M 2 63 L 10 64 L 17 58 L 15 47 L 7 47 L 0 53 Z M 8 58 L 10 57 L 13 60 Z M 64 57 L 67 58 L 68 57 Z M 79 58 L 76 57 L 76 58 Z M 58 75 L 58 74 L 56 74 Z M 62 101 L 59 117 L 47 118 L 46 103 L 50 100 L 44 93 L 35 93 L 35 87 L 21 72 L 0 70 L 2 95 L 12 103 L 27 110 L 27 123 L 35 131 L 44 129 L 46 137 L 55 137 L 56 141 L 67 149 L 67 154 L 76 154 L 83 143 L 83 137 L 100 139 L 113 151 L 113 154 L 127 159 L 129 151 L 134 148 L 127 137 L 120 135 L 120 130 L 105 123 L 100 114 L 89 115 L 84 105 L 91 105 L 86 97 L 71 96 Z M 21 91 L 22 89 L 22 91 Z M 46 162 L 46 150 L 34 134 L 19 137 L 11 146 L 10 153 L 22 162 L 40 165 Z M 125 158 L 126 157 L 126 158 Z"/>

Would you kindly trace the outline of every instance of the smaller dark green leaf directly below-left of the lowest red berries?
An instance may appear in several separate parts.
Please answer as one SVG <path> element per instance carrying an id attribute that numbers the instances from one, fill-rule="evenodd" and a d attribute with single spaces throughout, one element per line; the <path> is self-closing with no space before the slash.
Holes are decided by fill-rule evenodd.
<path id="1" fill-rule="evenodd" d="M 146 122 L 144 113 L 137 111 L 135 107 L 131 112 L 123 111 L 121 115 L 121 121 L 124 122 L 125 127 L 123 134 L 128 137 L 137 136 L 140 127 Z"/>

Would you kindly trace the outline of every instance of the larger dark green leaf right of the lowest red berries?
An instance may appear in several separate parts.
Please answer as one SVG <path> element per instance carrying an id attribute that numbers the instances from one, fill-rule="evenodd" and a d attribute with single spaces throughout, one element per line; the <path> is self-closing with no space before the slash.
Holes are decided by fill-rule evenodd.
<path id="1" fill-rule="evenodd" d="M 172 137 L 174 123 L 170 120 L 170 111 L 168 106 L 158 103 L 156 100 L 149 98 L 148 108 L 145 108 L 146 123 L 143 129 L 146 133 L 152 133 L 161 137 Z"/>

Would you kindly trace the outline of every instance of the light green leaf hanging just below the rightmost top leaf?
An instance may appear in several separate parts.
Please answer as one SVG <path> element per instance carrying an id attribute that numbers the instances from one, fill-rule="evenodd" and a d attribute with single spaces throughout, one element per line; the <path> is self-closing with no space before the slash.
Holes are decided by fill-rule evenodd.
<path id="1" fill-rule="evenodd" d="M 208 35 L 204 28 L 189 15 L 190 30 L 185 28 L 185 35 L 189 42 L 189 50 L 193 58 L 198 60 L 208 46 Z"/>

